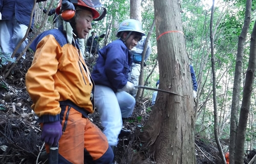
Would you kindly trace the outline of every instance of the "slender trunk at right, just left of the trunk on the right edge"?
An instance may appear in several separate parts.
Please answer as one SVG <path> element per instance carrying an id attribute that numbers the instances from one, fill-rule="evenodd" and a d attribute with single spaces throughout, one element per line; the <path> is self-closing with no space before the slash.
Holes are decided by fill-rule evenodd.
<path id="1" fill-rule="evenodd" d="M 229 139 L 229 163 L 234 164 L 234 152 L 236 148 L 236 137 L 238 128 L 238 108 L 239 108 L 239 96 L 241 87 L 241 70 L 242 70 L 242 59 L 244 52 L 244 43 L 246 40 L 246 35 L 248 33 L 248 28 L 250 25 L 250 15 L 251 15 L 251 0 L 247 0 L 244 26 L 239 36 L 238 40 L 238 53 L 236 59 L 236 68 L 234 71 L 234 84 L 232 93 L 232 104 L 231 104 L 231 115 L 230 115 L 230 139 Z"/>

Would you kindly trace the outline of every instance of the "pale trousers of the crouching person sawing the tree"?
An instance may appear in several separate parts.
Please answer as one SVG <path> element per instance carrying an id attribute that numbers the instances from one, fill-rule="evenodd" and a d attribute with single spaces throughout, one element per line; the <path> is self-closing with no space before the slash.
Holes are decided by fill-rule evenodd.
<path id="1" fill-rule="evenodd" d="M 96 85 L 94 102 L 100 114 L 103 133 L 110 146 L 116 146 L 122 129 L 122 118 L 132 115 L 135 99 L 125 91 L 115 93 L 107 86 Z"/>

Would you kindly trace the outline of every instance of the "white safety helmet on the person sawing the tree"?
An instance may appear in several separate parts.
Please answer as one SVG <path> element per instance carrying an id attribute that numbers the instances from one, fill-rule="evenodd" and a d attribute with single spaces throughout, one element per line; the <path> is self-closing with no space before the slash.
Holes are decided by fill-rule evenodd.
<path id="1" fill-rule="evenodd" d="M 125 31 L 138 32 L 141 36 L 144 36 L 145 33 L 142 31 L 142 26 L 139 20 L 136 19 L 126 19 L 121 22 L 117 30 L 117 37 L 121 37 L 120 33 Z"/>

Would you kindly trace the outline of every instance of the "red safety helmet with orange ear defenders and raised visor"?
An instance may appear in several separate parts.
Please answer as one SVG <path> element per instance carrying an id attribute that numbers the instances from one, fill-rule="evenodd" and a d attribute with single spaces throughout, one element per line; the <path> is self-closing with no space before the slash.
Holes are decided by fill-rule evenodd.
<path id="1" fill-rule="evenodd" d="M 60 0 L 57 8 L 55 9 L 55 12 L 58 15 L 60 14 L 63 20 L 68 21 L 71 18 L 73 18 L 75 15 L 76 9 L 74 5 L 81 9 L 84 9 L 84 8 L 89 9 L 93 14 L 93 19 L 100 17 L 100 13 L 95 9 L 96 7 L 102 8 L 101 4 L 99 3 L 99 0 Z M 106 10 L 104 11 L 106 12 Z M 104 13 L 104 16 L 105 16 L 105 13 Z"/>

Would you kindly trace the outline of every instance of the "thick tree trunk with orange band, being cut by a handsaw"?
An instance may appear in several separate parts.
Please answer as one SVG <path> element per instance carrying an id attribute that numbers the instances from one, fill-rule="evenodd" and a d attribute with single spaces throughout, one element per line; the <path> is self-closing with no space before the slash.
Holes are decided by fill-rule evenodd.
<path id="1" fill-rule="evenodd" d="M 195 163 L 193 88 L 178 0 L 154 1 L 160 89 L 140 134 L 157 163 Z"/>

